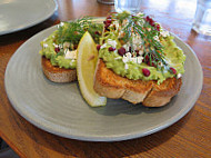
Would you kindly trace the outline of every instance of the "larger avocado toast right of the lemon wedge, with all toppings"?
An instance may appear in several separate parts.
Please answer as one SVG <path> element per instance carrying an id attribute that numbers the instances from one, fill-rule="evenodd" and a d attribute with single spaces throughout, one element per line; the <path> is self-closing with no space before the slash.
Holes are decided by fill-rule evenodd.
<path id="1" fill-rule="evenodd" d="M 93 88 L 100 96 L 161 107 L 179 92 L 185 56 L 152 18 L 108 16 L 98 50 Z"/>

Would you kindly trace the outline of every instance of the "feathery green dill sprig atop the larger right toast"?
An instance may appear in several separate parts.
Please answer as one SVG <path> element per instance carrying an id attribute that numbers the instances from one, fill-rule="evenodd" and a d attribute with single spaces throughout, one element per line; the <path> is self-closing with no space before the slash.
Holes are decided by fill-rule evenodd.
<path id="1" fill-rule="evenodd" d="M 143 13 L 133 16 L 123 11 L 121 13 L 114 13 L 112 17 L 117 19 L 122 27 L 120 31 L 124 32 L 124 37 L 121 38 L 121 40 L 123 40 L 124 43 L 130 42 L 131 52 L 135 52 L 132 48 L 132 33 L 138 33 L 142 39 L 144 61 L 149 61 L 150 66 L 154 65 L 159 69 L 161 62 L 167 66 L 163 52 L 164 48 L 160 41 L 154 39 L 154 37 L 159 37 L 160 32 L 144 20 Z"/>

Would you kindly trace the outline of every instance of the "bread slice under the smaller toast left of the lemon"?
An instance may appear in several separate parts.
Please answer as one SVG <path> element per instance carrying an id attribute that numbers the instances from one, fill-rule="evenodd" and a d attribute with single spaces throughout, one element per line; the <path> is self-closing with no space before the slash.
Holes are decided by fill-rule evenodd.
<path id="1" fill-rule="evenodd" d="M 41 58 L 42 70 L 46 77 L 53 82 L 71 82 L 77 80 L 77 69 L 54 67 L 46 57 Z"/>

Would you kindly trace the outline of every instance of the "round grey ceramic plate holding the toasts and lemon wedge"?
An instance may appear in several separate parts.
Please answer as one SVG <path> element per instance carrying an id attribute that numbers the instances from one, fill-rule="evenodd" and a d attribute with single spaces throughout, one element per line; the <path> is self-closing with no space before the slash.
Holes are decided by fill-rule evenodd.
<path id="1" fill-rule="evenodd" d="M 80 95 L 77 82 L 53 83 L 41 68 L 40 41 L 56 27 L 24 42 L 10 59 L 4 85 L 13 108 L 37 127 L 62 137 L 114 141 L 143 137 L 182 118 L 197 101 L 202 88 L 202 69 L 194 52 L 178 37 L 175 42 L 187 55 L 181 91 L 162 108 L 133 106 L 108 99 L 108 105 L 91 108 Z"/>

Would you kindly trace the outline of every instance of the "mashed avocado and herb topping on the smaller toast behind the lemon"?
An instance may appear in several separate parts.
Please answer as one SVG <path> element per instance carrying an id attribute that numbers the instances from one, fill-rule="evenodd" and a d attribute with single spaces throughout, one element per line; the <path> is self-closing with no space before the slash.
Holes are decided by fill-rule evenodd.
<path id="1" fill-rule="evenodd" d="M 52 66 L 76 69 L 77 47 L 83 33 L 89 31 L 98 43 L 102 33 L 102 24 L 93 23 L 90 18 L 72 22 L 61 22 L 58 29 L 40 42 L 40 55 L 50 60 Z"/>

